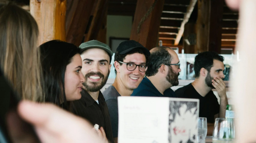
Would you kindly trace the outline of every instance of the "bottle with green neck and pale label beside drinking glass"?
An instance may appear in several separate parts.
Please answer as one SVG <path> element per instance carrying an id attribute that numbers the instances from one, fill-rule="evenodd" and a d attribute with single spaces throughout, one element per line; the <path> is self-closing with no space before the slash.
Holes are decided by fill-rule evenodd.
<path id="1" fill-rule="evenodd" d="M 225 118 L 226 118 L 227 122 L 229 123 L 229 129 L 226 133 L 226 138 L 234 139 L 235 138 L 235 129 L 234 129 L 235 113 L 233 111 L 232 105 L 227 105 Z"/>

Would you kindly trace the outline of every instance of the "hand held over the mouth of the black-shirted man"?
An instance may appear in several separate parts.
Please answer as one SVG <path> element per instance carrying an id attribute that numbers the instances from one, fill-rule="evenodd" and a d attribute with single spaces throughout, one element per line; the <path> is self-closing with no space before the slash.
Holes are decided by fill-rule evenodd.
<path id="1" fill-rule="evenodd" d="M 217 90 L 220 98 L 226 96 L 226 84 L 220 77 L 215 77 L 212 80 L 212 85 Z"/>

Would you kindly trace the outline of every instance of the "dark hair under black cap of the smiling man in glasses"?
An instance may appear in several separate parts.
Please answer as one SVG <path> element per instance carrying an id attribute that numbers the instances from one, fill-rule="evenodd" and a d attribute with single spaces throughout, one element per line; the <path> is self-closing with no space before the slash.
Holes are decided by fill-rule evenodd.
<path id="1" fill-rule="evenodd" d="M 118 51 L 115 53 L 115 59 L 114 61 L 124 61 L 125 57 L 127 55 L 131 55 L 131 54 L 134 54 L 134 53 L 139 53 L 139 54 L 143 54 L 145 55 L 145 53 L 143 52 L 143 50 L 141 50 L 140 48 L 135 48 L 133 50 L 131 50 L 130 52 L 126 53 L 126 54 L 119 54 Z M 146 56 L 146 61 L 148 61 L 149 59 L 149 56 Z M 120 65 L 122 65 L 122 63 L 119 63 Z M 114 65 L 115 66 L 115 65 Z M 116 67 L 115 67 L 115 73 L 116 73 Z"/>

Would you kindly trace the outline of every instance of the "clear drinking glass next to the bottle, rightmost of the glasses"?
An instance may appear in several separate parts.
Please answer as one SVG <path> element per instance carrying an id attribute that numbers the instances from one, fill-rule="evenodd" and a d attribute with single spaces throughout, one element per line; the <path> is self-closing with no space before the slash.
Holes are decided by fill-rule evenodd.
<path id="1" fill-rule="evenodd" d="M 212 134 L 215 141 L 233 141 L 234 125 L 233 122 L 225 118 L 216 118 Z"/>

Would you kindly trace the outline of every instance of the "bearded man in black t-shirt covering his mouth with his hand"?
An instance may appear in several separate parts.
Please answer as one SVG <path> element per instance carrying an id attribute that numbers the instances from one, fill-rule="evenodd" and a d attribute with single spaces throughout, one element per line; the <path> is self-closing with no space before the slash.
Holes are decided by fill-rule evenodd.
<path id="1" fill-rule="evenodd" d="M 207 135 L 212 135 L 215 118 L 225 117 L 227 106 L 226 85 L 224 79 L 224 57 L 215 52 L 199 53 L 195 57 L 195 80 L 191 84 L 175 91 L 179 98 L 199 99 L 199 117 L 207 118 Z M 220 97 L 217 97 L 212 89 L 216 89 Z"/>

